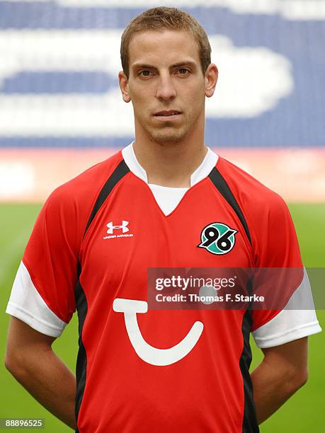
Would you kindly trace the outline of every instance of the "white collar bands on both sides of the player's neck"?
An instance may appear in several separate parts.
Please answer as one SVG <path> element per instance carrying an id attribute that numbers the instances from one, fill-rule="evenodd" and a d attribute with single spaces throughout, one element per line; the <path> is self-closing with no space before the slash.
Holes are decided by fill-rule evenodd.
<path id="1" fill-rule="evenodd" d="M 147 173 L 144 170 L 144 168 L 140 166 L 135 156 L 135 151 L 133 149 L 133 142 L 131 142 L 124 149 L 122 149 L 122 156 L 124 158 L 126 165 L 130 168 L 130 171 L 132 171 L 132 173 L 134 173 L 138 178 L 148 183 Z M 207 154 L 205 155 L 205 158 L 203 159 L 201 165 L 190 176 L 190 186 L 193 186 L 195 185 L 195 183 L 198 183 L 200 182 L 200 180 L 206 178 L 207 175 L 212 170 L 212 168 L 215 167 L 217 161 L 218 161 L 217 154 L 215 154 L 215 152 L 212 151 L 210 147 L 208 147 Z"/>

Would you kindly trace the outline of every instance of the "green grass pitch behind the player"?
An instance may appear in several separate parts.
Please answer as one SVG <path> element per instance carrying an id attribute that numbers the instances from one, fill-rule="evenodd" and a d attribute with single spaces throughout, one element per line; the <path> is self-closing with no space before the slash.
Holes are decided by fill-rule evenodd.
<path id="1" fill-rule="evenodd" d="M 14 275 L 18 268 L 25 243 L 33 227 L 40 205 L 0 205 L 0 350 L 4 359 L 8 315 L 4 313 Z M 304 264 L 307 267 L 325 267 L 325 204 L 292 204 Z M 321 325 L 325 326 L 325 313 L 318 311 Z M 323 433 L 325 431 L 325 334 L 310 337 L 309 381 L 283 408 L 261 425 L 262 433 Z M 261 351 L 253 347 L 253 366 L 261 361 Z M 76 318 L 72 320 L 62 337 L 54 343 L 59 357 L 74 370 L 77 350 Z M 49 412 L 43 409 L 17 383 L 0 364 L 0 417 L 45 418 L 43 432 L 71 432 Z M 217 398 L 217 396 L 216 396 Z M 31 431 L 30 429 L 27 429 Z M 200 432 L 198 432 L 200 433 Z"/>

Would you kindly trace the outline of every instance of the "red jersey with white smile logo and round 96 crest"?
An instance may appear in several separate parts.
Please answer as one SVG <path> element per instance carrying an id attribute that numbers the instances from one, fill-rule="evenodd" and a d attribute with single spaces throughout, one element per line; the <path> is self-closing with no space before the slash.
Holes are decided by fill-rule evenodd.
<path id="1" fill-rule="evenodd" d="M 198 248 L 216 221 L 226 253 Z M 219 158 L 165 215 L 119 151 L 52 193 L 23 263 L 59 319 L 78 311 L 78 432 L 258 432 L 249 334 L 276 311 L 147 311 L 147 269 L 302 266 L 274 192 Z"/>

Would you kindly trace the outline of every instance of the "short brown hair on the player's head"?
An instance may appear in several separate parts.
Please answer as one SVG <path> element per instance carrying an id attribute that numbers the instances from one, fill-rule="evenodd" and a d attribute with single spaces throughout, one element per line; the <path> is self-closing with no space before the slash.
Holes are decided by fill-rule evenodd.
<path id="1" fill-rule="evenodd" d="M 161 30 L 186 30 L 194 36 L 199 47 L 200 63 L 203 74 L 211 63 L 211 47 L 202 25 L 189 13 L 177 8 L 151 8 L 136 16 L 125 28 L 121 38 L 122 69 L 129 77 L 129 45 L 135 33 Z"/>

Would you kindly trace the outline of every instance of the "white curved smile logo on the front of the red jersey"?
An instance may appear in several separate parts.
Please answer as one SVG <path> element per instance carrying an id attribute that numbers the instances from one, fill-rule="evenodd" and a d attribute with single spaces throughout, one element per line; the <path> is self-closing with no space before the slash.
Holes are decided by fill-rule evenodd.
<path id="1" fill-rule="evenodd" d="M 144 340 L 137 323 L 137 313 L 147 313 L 148 311 L 146 301 L 114 299 L 113 310 L 117 313 L 124 313 L 127 335 L 135 352 L 142 361 L 152 365 L 170 365 L 186 357 L 198 342 L 203 331 L 203 323 L 197 321 L 190 328 L 188 335 L 177 345 L 169 347 L 169 349 L 158 349 Z"/>

